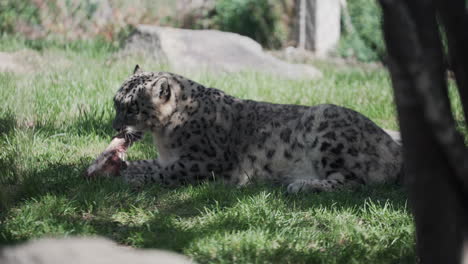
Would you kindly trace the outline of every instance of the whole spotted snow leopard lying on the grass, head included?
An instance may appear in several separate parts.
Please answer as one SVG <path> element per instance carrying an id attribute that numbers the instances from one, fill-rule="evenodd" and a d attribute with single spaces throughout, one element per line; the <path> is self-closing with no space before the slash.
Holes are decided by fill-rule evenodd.
<path id="1" fill-rule="evenodd" d="M 266 181 L 290 193 L 395 182 L 401 148 L 344 107 L 242 100 L 166 72 L 135 73 L 114 98 L 113 126 L 153 134 L 159 156 L 126 161 L 128 182 L 169 186 Z"/>

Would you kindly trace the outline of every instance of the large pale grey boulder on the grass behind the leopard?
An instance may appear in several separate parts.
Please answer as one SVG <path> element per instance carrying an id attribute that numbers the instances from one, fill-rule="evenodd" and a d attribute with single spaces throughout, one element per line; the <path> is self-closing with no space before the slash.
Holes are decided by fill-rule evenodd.
<path id="1" fill-rule="evenodd" d="M 236 33 L 138 25 L 125 52 L 149 54 L 174 71 L 259 71 L 290 79 L 314 79 L 321 73 L 310 65 L 291 64 L 265 53 L 260 44 Z"/>

